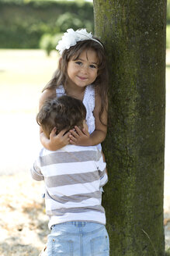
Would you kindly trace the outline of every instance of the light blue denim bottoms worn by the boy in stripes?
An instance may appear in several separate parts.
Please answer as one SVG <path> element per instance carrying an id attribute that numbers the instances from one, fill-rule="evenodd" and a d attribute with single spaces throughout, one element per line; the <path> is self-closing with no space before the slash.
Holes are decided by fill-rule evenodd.
<path id="1" fill-rule="evenodd" d="M 95 222 L 64 222 L 51 227 L 47 256 L 109 256 L 106 227 Z"/>

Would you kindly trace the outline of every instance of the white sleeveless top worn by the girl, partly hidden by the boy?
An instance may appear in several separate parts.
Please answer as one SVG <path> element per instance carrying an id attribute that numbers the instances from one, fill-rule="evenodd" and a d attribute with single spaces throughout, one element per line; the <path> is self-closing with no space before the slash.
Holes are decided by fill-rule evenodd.
<path id="1" fill-rule="evenodd" d="M 65 95 L 65 90 L 63 85 L 60 85 L 56 89 L 57 97 Z M 95 88 L 92 84 L 89 84 L 85 87 L 85 94 L 83 98 L 83 104 L 86 108 L 86 123 L 88 125 L 88 133 L 92 133 L 95 130 L 95 117 L 93 116 L 93 111 L 95 108 Z M 98 144 L 97 147 L 99 150 L 102 150 L 101 144 Z"/>

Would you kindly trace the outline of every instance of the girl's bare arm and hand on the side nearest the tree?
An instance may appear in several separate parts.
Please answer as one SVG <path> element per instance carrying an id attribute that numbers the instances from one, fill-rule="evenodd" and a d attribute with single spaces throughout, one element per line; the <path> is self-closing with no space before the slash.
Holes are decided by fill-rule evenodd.
<path id="1" fill-rule="evenodd" d="M 80 130 L 75 126 L 75 130 L 71 130 L 70 143 L 80 146 L 93 146 L 102 143 L 106 138 L 107 133 L 107 109 L 108 109 L 108 99 L 106 99 L 106 108 L 102 112 L 101 120 L 99 119 L 99 112 L 101 109 L 101 98 L 99 94 L 95 95 L 95 109 L 93 115 L 95 116 L 95 130 L 92 134 L 89 134 L 87 130 Z M 105 125 L 104 125 L 104 124 Z"/>

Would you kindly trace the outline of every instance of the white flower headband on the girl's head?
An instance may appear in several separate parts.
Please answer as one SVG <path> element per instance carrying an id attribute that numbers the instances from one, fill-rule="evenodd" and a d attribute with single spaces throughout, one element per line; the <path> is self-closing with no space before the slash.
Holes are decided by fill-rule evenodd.
<path id="1" fill-rule="evenodd" d="M 65 49 L 71 48 L 71 46 L 77 44 L 78 41 L 84 41 L 89 39 L 98 42 L 103 48 L 103 45 L 98 40 L 92 37 L 91 32 L 88 33 L 85 29 L 75 31 L 72 28 L 69 28 L 67 32 L 64 33 L 62 39 L 58 42 L 56 49 L 62 55 Z"/>

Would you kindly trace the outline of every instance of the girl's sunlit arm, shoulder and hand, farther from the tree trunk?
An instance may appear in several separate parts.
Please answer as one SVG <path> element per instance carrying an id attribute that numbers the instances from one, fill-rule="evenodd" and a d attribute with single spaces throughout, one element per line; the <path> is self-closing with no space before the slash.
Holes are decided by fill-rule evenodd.
<path id="1" fill-rule="evenodd" d="M 39 108 L 42 107 L 43 102 L 46 101 L 48 98 L 54 98 L 56 96 L 57 95 L 55 89 L 46 89 L 45 91 L 43 91 L 40 96 Z M 70 139 L 68 136 L 70 133 L 65 132 L 66 130 L 61 130 L 61 132 L 56 135 L 56 127 L 54 127 L 54 129 L 50 133 L 50 139 L 48 139 L 40 127 L 40 142 L 41 144 L 43 144 L 44 148 L 47 148 L 50 151 L 56 151 L 57 149 L 63 148 L 65 145 L 69 144 Z"/>

